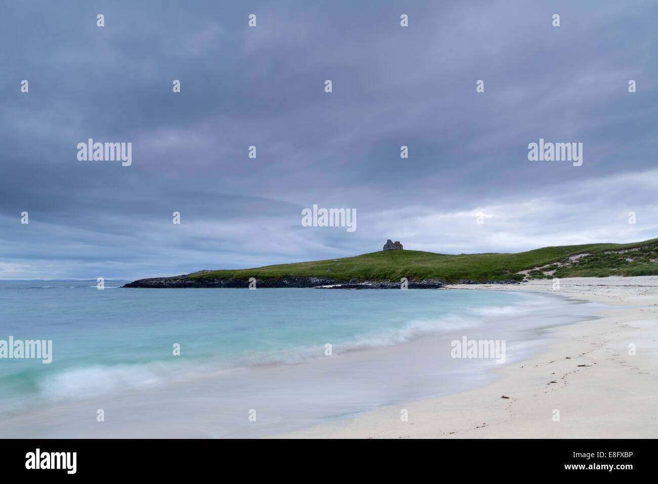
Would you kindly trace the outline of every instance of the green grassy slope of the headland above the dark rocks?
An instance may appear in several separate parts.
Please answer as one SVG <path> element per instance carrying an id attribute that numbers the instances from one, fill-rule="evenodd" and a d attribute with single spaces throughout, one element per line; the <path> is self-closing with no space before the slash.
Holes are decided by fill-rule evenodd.
<path id="1" fill-rule="evenodd" d="M 324 261 L 266 265 L 255 269 L 209 271 L 190 279 L 275 279 L 320 277 L 336 281 L 399 281 L 441 279 L 455 282 L 516 280 L 545 277 L 607 277 L 658 275 L 658 239 L 631 244 L 585 244 L 544 247 L 518 254 L 434 254 L 386 250 Z"/>

